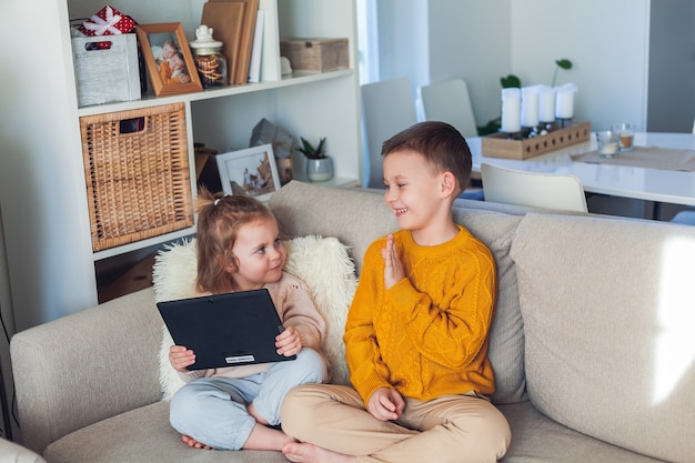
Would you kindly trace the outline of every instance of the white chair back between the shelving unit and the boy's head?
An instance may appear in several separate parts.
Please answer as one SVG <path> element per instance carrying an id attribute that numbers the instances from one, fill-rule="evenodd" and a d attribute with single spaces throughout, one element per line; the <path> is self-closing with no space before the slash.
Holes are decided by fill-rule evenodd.
<path id="1" fill-rule="evenodd" d="M 384 141 L 417 122 L 410 79 L 382 80 L 361 87 L 369 188 L 384 188 L 381 147 Z"/>

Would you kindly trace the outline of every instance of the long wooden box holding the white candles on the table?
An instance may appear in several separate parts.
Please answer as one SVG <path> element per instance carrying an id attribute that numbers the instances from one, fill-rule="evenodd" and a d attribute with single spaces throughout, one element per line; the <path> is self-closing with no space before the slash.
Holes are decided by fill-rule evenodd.
<path id="1" fill-rule="evenodd" d="M 581 143 L 591 138 L 590 122 L 576 122 L 571 127 L 556 129 L 545 135 L 532 139 L 510 140 L 506 133 L 493 133 L 482 138 L 483 155 L 524 160 L 571 144 Z"/>

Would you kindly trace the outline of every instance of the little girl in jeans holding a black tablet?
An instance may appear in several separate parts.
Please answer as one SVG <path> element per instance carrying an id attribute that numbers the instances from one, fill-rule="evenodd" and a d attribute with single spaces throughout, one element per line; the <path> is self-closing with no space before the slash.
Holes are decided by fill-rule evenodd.
<path id="1" fill-rule="evenodd" d="M 195 353 L 172 345 L 169 361 L 187 382 L 171 400 L 170 421 L 197 449 L 281 450 L 280 405 L 295 385 L 328 380 L 321 344 L 325 323 L 305 284 L 282 269 L 286 251 L 270 210 L 246 195 L 198 200 L 198 278 L 202 294 L 266 288 L 284 331 L 278 353 L 291 362 L 189 371 Z"/>

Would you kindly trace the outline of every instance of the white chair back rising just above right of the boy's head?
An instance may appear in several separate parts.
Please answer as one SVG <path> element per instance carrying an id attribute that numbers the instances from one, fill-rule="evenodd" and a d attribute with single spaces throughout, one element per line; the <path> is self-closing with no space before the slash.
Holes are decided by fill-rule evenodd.
<path id="1" fill-rule="evenodd" d="M 426 121 L 447 122 L 463 137 L 477 137 L 469 87 L 463 79 L 445 80 L 421 87 L 420 101 Z"/>

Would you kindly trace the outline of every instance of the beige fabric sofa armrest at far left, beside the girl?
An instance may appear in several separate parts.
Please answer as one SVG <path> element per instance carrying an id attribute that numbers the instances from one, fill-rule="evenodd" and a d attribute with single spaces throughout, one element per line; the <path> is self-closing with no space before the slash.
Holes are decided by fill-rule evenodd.
<path id="1" fill-rule="evenodd" d="M 22 443 L 42 453 L 66 434 L 160 400 L 162 323 L 147 289 L 17 333 L 10 352 Z"/>

